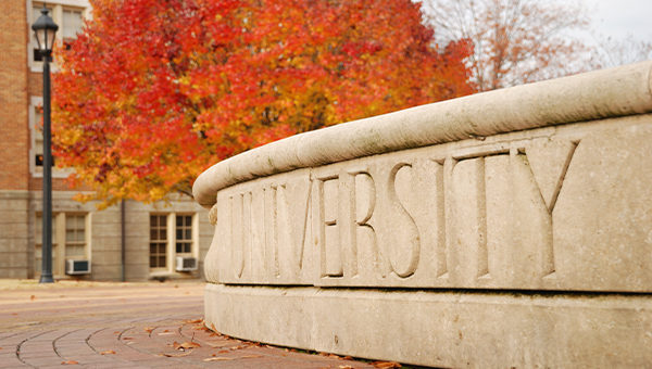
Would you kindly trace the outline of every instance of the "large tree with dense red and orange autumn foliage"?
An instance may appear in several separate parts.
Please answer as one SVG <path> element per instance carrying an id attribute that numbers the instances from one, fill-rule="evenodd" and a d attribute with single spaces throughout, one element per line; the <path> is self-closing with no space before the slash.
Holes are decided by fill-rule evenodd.
<path id="1" fill-rule="evenodd" d="M 96 0 L 57 51 L 53 148 L 101 206 L 190 194 L 290 135 L 473 92 L 410 0 Z"/>

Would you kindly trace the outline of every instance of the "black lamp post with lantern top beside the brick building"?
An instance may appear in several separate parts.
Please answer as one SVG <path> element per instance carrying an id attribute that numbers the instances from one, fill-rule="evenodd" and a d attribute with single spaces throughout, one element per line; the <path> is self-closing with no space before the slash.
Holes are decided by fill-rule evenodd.
<path id="1" fill-rule="evenodd" d="M 38 49 L 43 56 L 43 243 L 41 278 L 39 283 L 53 283 L 52 278 L 52 149 L 50 133 L 50 58 L 54 34 L 59 26 L 48 16 L 43 5 L 41 16 L 32 25 Z"/>

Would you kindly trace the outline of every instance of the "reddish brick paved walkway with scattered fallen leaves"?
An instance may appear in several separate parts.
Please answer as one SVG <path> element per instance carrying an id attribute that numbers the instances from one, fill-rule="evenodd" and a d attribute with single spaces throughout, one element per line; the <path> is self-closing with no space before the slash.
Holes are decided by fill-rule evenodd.
<path id="1" fill-rule="evenodd" d="M 203 288 L 0 281 L 0 368 L 374 368 L 215 334 Z"/>

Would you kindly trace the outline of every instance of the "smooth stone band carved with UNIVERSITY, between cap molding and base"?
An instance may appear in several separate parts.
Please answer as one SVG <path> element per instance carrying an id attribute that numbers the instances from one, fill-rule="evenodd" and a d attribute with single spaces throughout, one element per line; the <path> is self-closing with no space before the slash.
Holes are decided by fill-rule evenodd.
<path id="1" fill-rule="evenodd" d="M 636 123 L 415 149 L 224 189 L 220 282 L 652 291 L 649 187 L 617 193 L 625 175 L 652 183 L 652 128 Z M 611 214 L 618 198 L 636 199 L 629 221 Z M 598 229 L 591 214 L 620 227 Z M 607 250 L 609 230 L 623 226 L 627 244 Z"/>

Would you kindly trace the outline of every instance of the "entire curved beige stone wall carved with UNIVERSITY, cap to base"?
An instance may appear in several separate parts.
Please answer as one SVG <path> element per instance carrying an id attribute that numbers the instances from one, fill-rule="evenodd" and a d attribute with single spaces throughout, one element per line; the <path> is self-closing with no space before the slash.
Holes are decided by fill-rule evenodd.
<path id="1" fill-rule="evenodd" d="M 437 367 L 651 366 L 652 61 L 211 167 L 206 325 Z"/>

